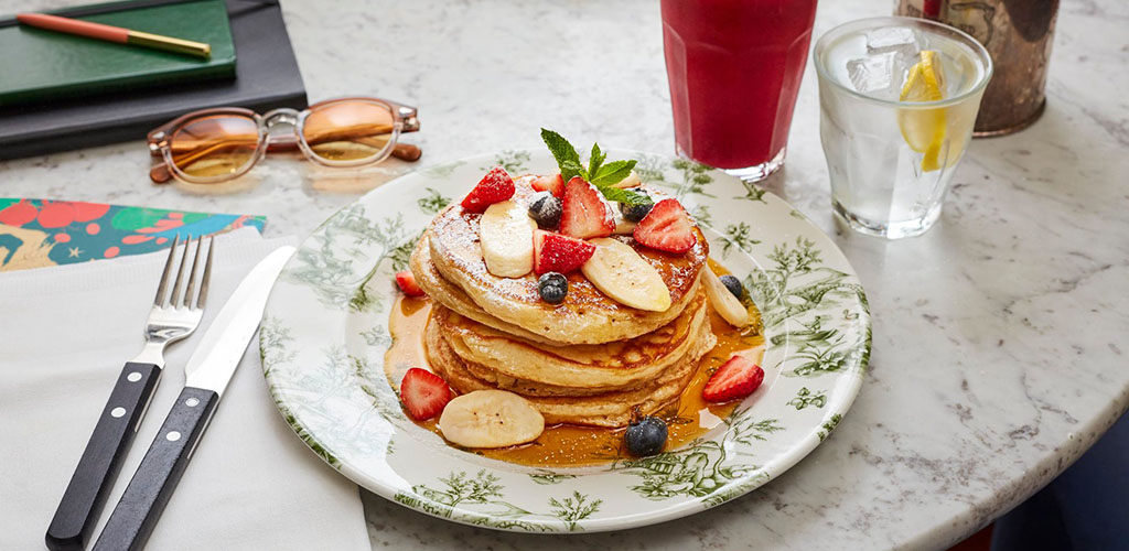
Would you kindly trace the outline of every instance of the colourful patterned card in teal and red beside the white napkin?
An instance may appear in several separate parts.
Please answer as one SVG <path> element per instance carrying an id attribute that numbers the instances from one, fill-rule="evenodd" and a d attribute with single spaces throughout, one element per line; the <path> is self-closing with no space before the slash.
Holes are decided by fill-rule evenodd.
<path id="1" fill-rule="evenodd" d="M 0 199 L 0 272 L 143 254 L 175 236 L 263 230 L 266 217 L 120 204 Z"/>

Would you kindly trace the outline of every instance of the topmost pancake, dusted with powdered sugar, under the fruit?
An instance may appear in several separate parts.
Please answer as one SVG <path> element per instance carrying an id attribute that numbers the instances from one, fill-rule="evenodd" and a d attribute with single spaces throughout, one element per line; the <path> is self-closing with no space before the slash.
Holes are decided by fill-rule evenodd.
<path id="1" fill-rule="evenodd" d="M 515 180 L 514 201 L 528 204 L 535 193 L 530 182 L 534 176 Z M 664 194 L 647 190 L 654 198 Z M 537 277 L 533 273 L 522 278 L 499 278 L 487 271 L 479 244 L 479 219 L 481 215 L 469 212 L 460 204 L 453 204 L 439 212 L 431 221 L 421 246 L 429 246 L 432 265 L 440 279 L 462 289 L 466 297 L 482 311 L 507 324 L 515 325 L 541 336 L 541 342 L 567 344 L 598 344 L 631 339 L 651 332 L 681 314 L 686 297 L 693 295 L 701 268 L 709 255 L 709 244 L 697 227 L 694 246 L 684 254 L 656 251 L 636 242 L 631 236 L 615 236 L 632 248 L 649 264 L 655 266 L 671 292 L 672 306 L 665 312 L 647 312 L 631 308 L 609 298 L 579 272 L 569 279 L 569 292 L 564 301 L 551 305 L 537 292 Z M 415 254 L 413 254 L 414 260 Z M 419 265 L 417 265 L 419 264 Z M 417 280 L 428 278 L 426 265 L 412 263 Z M 417 271 L 419 270 L 419 271 Z M 460 314 L 485 323 L 483 320 L 453 307 Z M 517 332 L 504 331 L 519 334 Z"/>

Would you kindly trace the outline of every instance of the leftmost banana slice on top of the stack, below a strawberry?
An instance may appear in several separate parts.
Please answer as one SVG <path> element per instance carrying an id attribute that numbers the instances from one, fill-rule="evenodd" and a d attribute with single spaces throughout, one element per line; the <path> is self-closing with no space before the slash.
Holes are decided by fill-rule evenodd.
<path id="1" fill-rule="evenodd" d="M 479 220 L 487 270 L 499 278 L 520 278 L 533 270 L 533 230 L 537 222 L 515 201 L 493 203 Z"/>

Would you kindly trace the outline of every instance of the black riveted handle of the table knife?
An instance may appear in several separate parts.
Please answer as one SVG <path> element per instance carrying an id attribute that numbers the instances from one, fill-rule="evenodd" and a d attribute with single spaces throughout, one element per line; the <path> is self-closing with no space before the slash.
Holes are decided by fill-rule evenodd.
<path id="1" fill-rule="evenodd" d="M 219 394 L 213 391 L 191 386 L 181 391 L 160 432 L 111 513 L 94 551 L 135 551 L 145 546 L 217 404 Z"/>

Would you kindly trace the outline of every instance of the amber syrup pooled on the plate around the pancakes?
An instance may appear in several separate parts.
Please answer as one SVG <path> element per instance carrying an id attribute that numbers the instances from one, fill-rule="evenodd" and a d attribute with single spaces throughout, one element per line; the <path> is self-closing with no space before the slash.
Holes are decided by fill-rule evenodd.
<path id="1" fill-rule="evenodd" d="M 709 266 L 718 276 L 729 273 L 724 266 L 709 261 Z M 429 369 L 423 332 L 431 315 L 431 300 L 427 297 L 401 296 L 392 308 L 388 332 L 392 346 L 384 356 L 384 371 L 393 388 L 400 386 L 404 373 L 412 367 Z M 702 387 L 710 375 L 734 353 L 741 352 L 756 364 L 764 353 L 764 339 L 756 329 L 738 330 L 721 318 L 714 307 L 709 307 L 710 327 L 717 336 L 717 346 L 702 357 L 693 378 L 682 392 L 677 402 L 656 413 L 666 421 L 668 437 L 666 449 L 677 449 L 684 444 L 723 425 L 739 401 L 714 404 L 702 400 Z M 417 422 L 439 436 L 438 419 Z M 586 466 L 609 463 L 618 457 L 628 457 L 623 447 L 624 428 L 583 427 L 577 425 L 554 425 L 534 441 L 520 446 L 498 449 L 473 449 L 472 453 L 511 463 L 541 467 Z"/>

